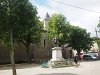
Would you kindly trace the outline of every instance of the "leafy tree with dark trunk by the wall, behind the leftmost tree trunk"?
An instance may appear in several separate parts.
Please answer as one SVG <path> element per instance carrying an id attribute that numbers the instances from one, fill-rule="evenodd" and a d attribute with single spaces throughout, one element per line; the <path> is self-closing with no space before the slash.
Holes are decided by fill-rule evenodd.
<path id="1" fill-rule="evenodd" d="M 20 42 L 26 47 L 27 62 L 31 62 L 30 44 L 38 44 L 42 32 L 42 23 L 37 16 L 36 7 L 29 0 L 21 0 L 16 5 L 16 14 L 18 19 Z M 18 9 L 17 9 L 18 8 Z"/>

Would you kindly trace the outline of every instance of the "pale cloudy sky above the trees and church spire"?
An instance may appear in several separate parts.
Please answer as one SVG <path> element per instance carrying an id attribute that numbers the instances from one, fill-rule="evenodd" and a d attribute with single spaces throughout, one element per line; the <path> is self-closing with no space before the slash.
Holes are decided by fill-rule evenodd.
<path id="1" fill-rule="evenodd" d="M 47 12 L 50 16 L 53 13 L 61 13 L 72 25 L 86 29 L 92 37 L 96 36 L 95 28 L 100 20 L 100 0 L 30 0 L 30 2 L 37 7 L 41 20 L 45 18 Z M 100 33 L 98 36 L 100 37 Z"/>

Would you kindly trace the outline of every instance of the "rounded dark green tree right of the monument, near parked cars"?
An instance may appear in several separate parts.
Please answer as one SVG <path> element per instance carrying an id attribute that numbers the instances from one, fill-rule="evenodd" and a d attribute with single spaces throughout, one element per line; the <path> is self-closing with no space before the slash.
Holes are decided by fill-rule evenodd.
<path id="1" fill-rule="evenodd" d="M 81 50 L 89 50 L 93 45 L 93 39 L 90 37 L 90 33 L 87 33 L 85 29 L 80 27 L 71 27 L 69 34 L 68 44 L 73 49 L 77 50 L 80 55 Z"/>

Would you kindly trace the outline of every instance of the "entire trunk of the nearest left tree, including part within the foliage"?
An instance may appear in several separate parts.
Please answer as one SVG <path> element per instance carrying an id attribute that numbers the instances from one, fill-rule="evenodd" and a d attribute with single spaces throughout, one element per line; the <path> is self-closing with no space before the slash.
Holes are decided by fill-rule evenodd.
<path id="1" fill-rule="evenodd" d="M 11 25 L 11 0 L 7 1 L 8 3 L 8 8 L 9 8 L 9 21 L 8 24 Z M 13 40 L 13 31 L 12 31 L 12 27 L 10 26 L 10 31 L 9 31 L 10 35 L 10 59 L 11 59 L 11 66 L 12 66 L 12 72 L 13 75 L 17 75 L 16 74 L 16 67 L 15 67 L 15 62 L 14 62 L 14 40 Z"/>

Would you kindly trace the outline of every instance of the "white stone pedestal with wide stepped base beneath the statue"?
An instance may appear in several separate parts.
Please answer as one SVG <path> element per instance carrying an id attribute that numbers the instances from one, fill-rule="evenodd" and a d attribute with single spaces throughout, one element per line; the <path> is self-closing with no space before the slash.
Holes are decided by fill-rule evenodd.
<path id="1" fill-rule="evenodd" d="M 66 67 L 69 66 L 69 62 L 62 58 L 62 48 L 54 47 L 52 48 L 52 59 L 49 61 L 49 67 Z"/>

